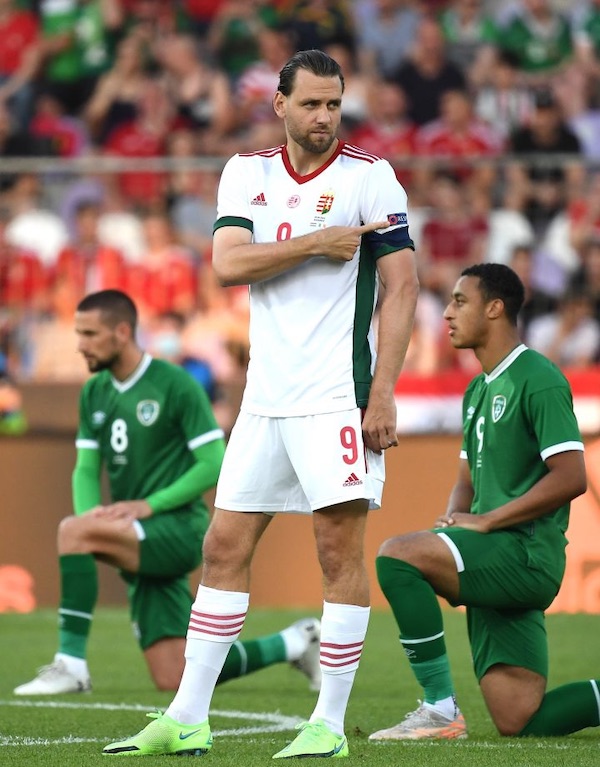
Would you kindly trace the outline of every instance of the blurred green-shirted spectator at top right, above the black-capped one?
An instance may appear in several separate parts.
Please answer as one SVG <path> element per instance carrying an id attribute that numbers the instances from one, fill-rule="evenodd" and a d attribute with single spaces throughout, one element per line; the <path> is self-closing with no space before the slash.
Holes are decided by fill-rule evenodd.
<path id="1" fill-rule="evenodd" d="M 521 0 L 500 26 L 498 46 L 517 57 L 519 71 L 530 85 L 548 85 L 573 56 L 571 25 L 551 0 Z"/>

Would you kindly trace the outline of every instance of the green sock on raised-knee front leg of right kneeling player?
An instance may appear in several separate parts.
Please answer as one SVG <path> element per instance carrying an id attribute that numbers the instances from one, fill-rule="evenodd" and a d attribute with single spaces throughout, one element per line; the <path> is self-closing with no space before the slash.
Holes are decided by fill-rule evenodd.
<path id="1" fill-rule="evenodd" d="M 454 695 L 438 598 L 416 567 L 377 557 L 377 578 L 400 629 L 400 642 L 425 703 Z"/>

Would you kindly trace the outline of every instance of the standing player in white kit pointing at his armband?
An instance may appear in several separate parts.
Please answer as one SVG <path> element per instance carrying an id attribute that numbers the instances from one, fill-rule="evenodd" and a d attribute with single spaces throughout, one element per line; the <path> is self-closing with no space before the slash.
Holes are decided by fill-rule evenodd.
<path id="1" fill-rule="evenodd" d="M 296 53 L 273 100 L 285 146 L 236 155 L 224 169 L 213 264 L 224 285 L 250 285 L 246 389 L 204 542 L 181 684 L 162 717 L 105 754 L 211 747 L 215 680 L 248 610 L 256 545 L 277 512 L 312 515 L 324 605 L 321 692 L 275 758 L 348 754 L 344 717 L 369 618 L 364 530 L 381 501 L 383 451 L 397 444 L 394 386 L 418 282 L 392 167 L 336 137 L 343 87 L 325 53 Z"/>

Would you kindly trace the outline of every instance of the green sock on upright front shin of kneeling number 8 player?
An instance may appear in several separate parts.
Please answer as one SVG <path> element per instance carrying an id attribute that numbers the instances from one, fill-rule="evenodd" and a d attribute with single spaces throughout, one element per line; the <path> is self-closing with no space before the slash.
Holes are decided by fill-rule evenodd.
<path id="1" fill-rule="evenodd" d="M 92 554 L 65 554 L 58 558 L 61 576 L 59 652 L 85 658 L 98 598 L 98 573 Z"/>

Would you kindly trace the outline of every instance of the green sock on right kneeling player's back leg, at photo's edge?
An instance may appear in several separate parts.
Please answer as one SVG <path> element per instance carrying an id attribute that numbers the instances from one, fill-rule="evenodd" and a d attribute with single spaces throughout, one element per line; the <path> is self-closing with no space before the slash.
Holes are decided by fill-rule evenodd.
<path id="1" fill-rule="evenodd" d="M 600 725 L 600 681 L 564 684 L 544 695 L 542 705 L 523 727 L 520 736 L 568 735 Z"/>

